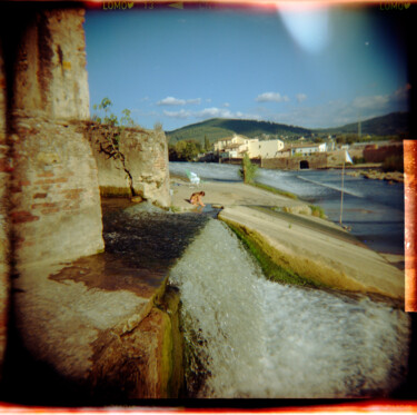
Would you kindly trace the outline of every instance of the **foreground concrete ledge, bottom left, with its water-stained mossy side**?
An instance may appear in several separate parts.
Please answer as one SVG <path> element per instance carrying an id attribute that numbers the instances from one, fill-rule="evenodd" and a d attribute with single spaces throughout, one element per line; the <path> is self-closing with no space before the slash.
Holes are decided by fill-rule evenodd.
<path id="1" fill-rule="evenodd" d="M 137 278 L 119 261 L 100 254 L 21 269 L 13 284 L 19 352 L 9 355 L 9 367 L 22 356 L 30 364 L 16 385 L 16 375 L 7 375 L 19 399 L 68 404 L 82 396 L 86 405 L 177 397 L 179 299 L 176 293 L 166 299 L 167 276 Z M 75 389 L 80 396 L 71 396 Z"/>

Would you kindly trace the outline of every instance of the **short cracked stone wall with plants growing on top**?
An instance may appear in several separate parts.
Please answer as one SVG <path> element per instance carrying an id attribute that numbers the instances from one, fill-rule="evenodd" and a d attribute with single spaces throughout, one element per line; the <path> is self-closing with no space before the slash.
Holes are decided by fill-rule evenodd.
<path id="1" fill-rule="evenodd" d="M 170 206 L 168 142 L 162 129 L 123 129 L 119 157 L 103 150 L 106 126 L 88 122 L 83 131 L 96 157 L 102 196 L 140 196 L 158 206 Z"/>

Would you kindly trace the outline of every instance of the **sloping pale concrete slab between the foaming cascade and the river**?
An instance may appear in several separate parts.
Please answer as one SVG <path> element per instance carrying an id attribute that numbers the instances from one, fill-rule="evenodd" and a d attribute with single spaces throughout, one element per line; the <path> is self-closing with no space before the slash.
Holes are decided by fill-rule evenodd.
<path id="1" fill-rule="evenodd" d="M 405 296 L 404 273 L 326 220 L 315 218 L 305 226 L 244 206 L 227 207 L 219 218 L 246 231 L 276 264 L 306 278 L 346 290 Z"/>

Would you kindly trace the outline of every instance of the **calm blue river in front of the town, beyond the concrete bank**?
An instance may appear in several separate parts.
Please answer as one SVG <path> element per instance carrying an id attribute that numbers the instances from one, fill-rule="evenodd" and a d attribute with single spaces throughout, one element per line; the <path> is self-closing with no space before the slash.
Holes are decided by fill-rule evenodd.
<path id="1" fill-rule="evenodd" d="M 169 166 L 180 176 L 188 169 L 207 180 L 241 181 L 239 166 L 172 161 Z M 318 205 L 330 220 L 339 223 L 341 170 L 259 169 L 256 181 Z M 342 223 L 371 249 L 404 255 L 404 185 L 345 175 Z"/>

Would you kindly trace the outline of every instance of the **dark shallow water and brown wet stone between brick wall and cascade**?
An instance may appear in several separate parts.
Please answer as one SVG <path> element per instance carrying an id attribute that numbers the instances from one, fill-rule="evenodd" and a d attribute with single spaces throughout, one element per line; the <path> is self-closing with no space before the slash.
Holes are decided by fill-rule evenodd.
<path id="1" fill-rule="evenodd" d="M 151 298 L 211 214 L 172 214 L 126 199 L 107 199 L 102 208 L 106 251 L 67 264 L 50 279 Z"/>

